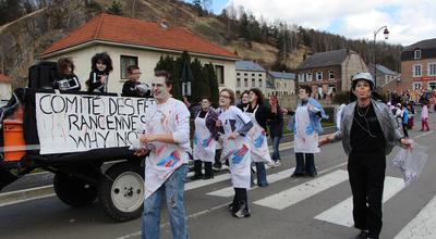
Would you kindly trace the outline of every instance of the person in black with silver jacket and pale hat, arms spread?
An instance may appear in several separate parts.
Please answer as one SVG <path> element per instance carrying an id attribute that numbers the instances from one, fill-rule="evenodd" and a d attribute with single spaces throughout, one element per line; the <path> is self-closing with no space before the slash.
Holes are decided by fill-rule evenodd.
<path id="1" fill-rule="evenodd" d="M 354 227 L 361 229 L 358 238 L 378 238 L 386 155 L 396 144 L 410 148 L 410 141 L 404 139 L 389 108 L 372 99 L 374 80 L 370 73 L 355 74 L 351 89 L 356 101 L 343 110 L 340 129 L 319 140 L 319 144 L 342 139 L 349 156 Z"/>

